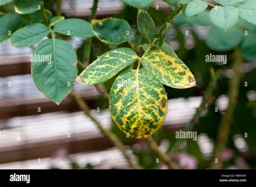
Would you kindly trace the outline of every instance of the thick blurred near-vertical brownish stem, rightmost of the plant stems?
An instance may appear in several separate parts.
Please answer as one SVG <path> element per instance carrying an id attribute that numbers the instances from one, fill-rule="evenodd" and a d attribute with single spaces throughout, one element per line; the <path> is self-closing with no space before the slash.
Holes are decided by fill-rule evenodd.
<path id="1" fill-rule="evenodd" d="M 237 106 L 238 93 L 241 81 L 240 67 L 242 64 L 242 56 L 239 49 L 234 51 L 234 61 L 232 64 L 233 78 L 230 80 L 230 86 L 228 88 L 229 105 L 227 107 L 225 115 L 220 121 L 218 130 L 217 142 L 214 150 L 214 158 L 218 158 L 218 163 L 213 163 L 213 169 L 220 169 L 223 165 L 222 154 L 227 147 L 228 136 L 230 135 L 231 124 L 233 122 L 234 109 Z"/>

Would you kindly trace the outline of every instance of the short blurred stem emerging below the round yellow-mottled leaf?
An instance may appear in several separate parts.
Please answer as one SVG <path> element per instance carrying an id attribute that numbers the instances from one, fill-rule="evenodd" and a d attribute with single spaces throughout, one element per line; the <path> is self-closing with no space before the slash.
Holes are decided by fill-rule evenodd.
<path id="1" fill-rule="evenodd" d="M 158 145 L 156 141 L 154 141 L 152 136 L 146 138 L 145 141 L 150 150 L 156 153 L 159 159 L 163 161 L 168 166 L 169 169 L 179 169 L 179 167 L 176 164 L 174 164 L 167 155 L 165 155 L 162 151 L 159 150 Z"/>

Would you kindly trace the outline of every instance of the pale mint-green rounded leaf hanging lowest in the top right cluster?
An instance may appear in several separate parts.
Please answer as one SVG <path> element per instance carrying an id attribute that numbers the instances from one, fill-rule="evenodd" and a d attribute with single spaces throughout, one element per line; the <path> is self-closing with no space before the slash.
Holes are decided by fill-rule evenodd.
<path id="1" fill-rule="evenodd" d="M 238 9 L 234 6 L 215 6 L 210 11 L 210 18 L 214 25 L 228 30 L 238 22 Z"/>

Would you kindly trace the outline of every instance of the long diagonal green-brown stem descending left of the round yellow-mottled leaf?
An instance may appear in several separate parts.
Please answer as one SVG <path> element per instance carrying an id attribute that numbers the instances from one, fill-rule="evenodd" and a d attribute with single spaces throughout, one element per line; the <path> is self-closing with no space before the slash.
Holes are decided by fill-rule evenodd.
<path id="1" fill-rule="evenodd" d="M 128 161 L 129 165 L 133 169 L 142 169 L 140 165 L 135 163 L 131 157 L 127 154 L 124 144 L 120 139 L 113 134 L 111 131 L 107 131 L 103 128 L 102 124 L 91 114 L 91 110 L 89 106 L 84 102 L 82 98 L 80 98 L 79 95 L 77 95 L 74 91 L 70 93 L 70 95 L 73 97 L 73 99 L 76 101 L 77 105 L 80 107 L 80 109 L 83 110 L 83 112 L 90 117 L 90 119 L 95 122 L 99 130 L 107 137 L 109 140 L 120 150 L 122 151 L 123 155 L 125 156 L 126 160 Z"/>

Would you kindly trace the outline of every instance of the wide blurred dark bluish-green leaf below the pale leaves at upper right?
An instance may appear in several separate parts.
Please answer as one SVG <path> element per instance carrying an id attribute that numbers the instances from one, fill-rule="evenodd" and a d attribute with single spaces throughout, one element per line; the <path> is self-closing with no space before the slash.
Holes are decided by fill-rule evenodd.
<path id="1" fill-rule="evenodd" d="M 244 34 L 238 28 L 233 28 L 227 32 L 213 28 L 208 32 L 205 43 L 212 50 L 228 51 L 237 46 L 243 36 Z"/>

